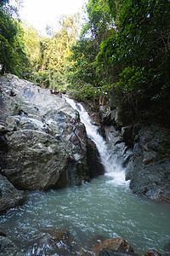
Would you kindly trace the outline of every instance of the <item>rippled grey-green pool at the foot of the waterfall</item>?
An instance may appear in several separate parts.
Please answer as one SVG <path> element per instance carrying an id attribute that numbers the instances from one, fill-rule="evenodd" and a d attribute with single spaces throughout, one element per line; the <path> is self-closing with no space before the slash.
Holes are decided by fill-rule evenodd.
<path id="1" fill-rule="evenodd" d="M 127 185 L 114 183 L 110 176 L 80 187 L 30 193 L 26 205 L 10 210 L 0 221 L 1 229 L 27 255 L 31 255 L 28 240 L 59 226 L 70 230 L 79 246 L 94 236 L 122 236 L 135 252 L 155 248 L 163 255 L 170 241 L 169 205 L 133 195 Z"/>

